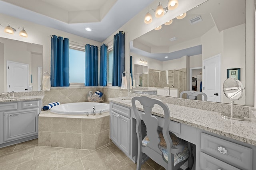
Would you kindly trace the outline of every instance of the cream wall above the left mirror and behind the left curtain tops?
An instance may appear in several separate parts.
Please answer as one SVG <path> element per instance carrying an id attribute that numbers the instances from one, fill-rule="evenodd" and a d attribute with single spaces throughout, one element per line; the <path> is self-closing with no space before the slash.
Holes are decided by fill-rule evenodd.
<path id="1" fill-rule="evenodd" d="M 79 37 L 74 34 L 66 33 L 58 29 L 53 29 L 50 27 L 45 27 L 39 24 L 35 24 L 29 21 L 20 20 L 18 18 L 13 18 L 4 14 L 0 14 L 1 24 L 7 25 L 10 23 L 13 27 L 23 26 L 28 33 L 28 37 L 20 37 L 19 33 L 8 34 L 4 32 L 4 28 L 0 27 L 0 37 L 15 39 L 19 41 L 25 41 L 28 43 L 35 43 L 43 45 L 43 72 L 50 72 L 50 58 L 51 58 L 51 37 L 50 35 L 57 35 L 68 38 L 70 41 L 79 43 L 79 45 L 84 46 L 86 43 L 90 45 L 96 45 L 100 47 L 102 43 L 86 39 L 84 37 Z M 112 37 L 113 38 L 113 37 Z M 126 62 L 128 63 L 128 62 Z"/>

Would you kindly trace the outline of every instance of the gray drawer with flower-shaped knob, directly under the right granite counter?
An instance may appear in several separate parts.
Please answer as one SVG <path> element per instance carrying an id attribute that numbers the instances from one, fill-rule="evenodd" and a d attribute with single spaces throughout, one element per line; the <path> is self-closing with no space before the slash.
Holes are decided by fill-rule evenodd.
<path id="1" fill-rule="evenodd" d="M 218 148 L 223 147 L 226 153 Z M 201 133 L 201 151 L 243 170 L 252 170 L 252 149 Z"/>

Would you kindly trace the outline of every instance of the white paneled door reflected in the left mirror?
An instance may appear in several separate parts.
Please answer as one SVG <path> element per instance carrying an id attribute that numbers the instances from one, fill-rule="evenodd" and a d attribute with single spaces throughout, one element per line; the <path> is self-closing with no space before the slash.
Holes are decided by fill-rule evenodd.
<path id="1" fill-rule="evenodd" d="M 6 62 L 7 92 L 28 91 L 28 64 L 13 61 Z"/>

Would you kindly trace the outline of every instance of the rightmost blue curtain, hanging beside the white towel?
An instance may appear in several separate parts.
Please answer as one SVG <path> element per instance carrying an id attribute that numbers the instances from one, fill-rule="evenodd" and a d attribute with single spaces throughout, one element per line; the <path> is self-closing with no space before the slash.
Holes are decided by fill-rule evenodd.
<path id="1" fill-rule="evenodd" d="M 114 35 L 112 86 L 121 87 L 122 84 L 122 73 L 124 72 L 124 44 L 125 33 L 119 31 L 119 33 Z"/>

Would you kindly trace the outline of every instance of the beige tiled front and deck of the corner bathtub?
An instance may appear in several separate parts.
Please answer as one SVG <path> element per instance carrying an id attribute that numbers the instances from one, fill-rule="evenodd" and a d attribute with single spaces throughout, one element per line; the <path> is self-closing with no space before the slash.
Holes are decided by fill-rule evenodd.
<path id="1" fill-rule="evenodd" d="M 98 149 L 108 143 L 109 113 L 102 115 L 39 115 L 38 145 L 73 149 Z"/>

